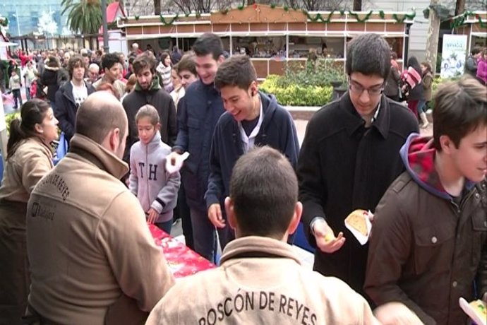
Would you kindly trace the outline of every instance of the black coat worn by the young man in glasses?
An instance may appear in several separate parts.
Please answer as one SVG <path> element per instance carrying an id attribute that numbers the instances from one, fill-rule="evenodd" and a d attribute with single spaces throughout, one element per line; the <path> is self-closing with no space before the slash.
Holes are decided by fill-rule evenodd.
<path id="1" fill-rule="evenodd" d="M 375 210 L 387 187 L 404 171 L 399 149 L 411 132 L 418 131 L 411 111 L 384 95 L 378 117 L 369 128 L 349 93 L 311 117 L 297 169 L 301 220 L 313 246 L 309 225 L 316 216 L 325 218 L 335 235 L 343 232 L 347 238 L 333 254 L 316 249 L 316 271 L 337 276 L 363 293 L 368 247 L 361 246 L 345 228 L 344 219 L 357 208 Z"/>

